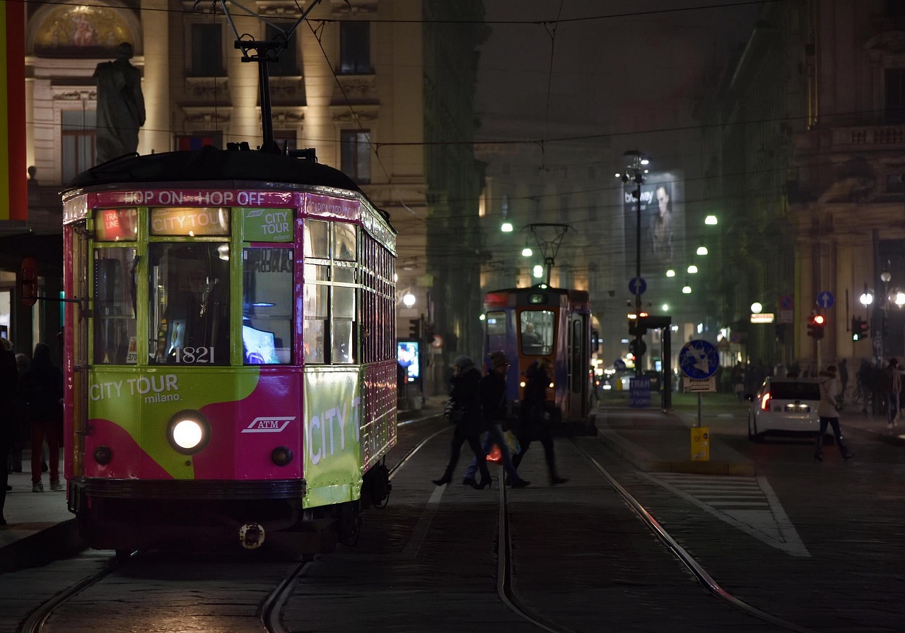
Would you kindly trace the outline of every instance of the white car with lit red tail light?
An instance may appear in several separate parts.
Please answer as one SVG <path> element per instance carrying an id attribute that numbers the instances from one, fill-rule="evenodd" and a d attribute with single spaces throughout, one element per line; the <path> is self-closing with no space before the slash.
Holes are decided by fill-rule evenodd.
<path id="1" fill-rule="evenodd" d="M 816 435 L 819 385 L 816 378 L 767 378 L 753 397 L 748 396 L 748 439 L 760 442 L 767 434 Z"/>

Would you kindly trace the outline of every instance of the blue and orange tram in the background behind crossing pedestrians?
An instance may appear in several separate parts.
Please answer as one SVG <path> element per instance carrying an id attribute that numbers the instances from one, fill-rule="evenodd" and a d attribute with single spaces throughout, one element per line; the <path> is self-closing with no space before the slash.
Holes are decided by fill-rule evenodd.
<path id="1" fill-rule="evenodd" d="M 507 400 L 518 415 L 531 364 L 547 359 L 552 383 L 547 390 L 554 430 L 595 434 L 591 411 L 591 307 L 585 290 L 530 288 L 491 290 L 484 295 L 484 351 L 502 350 L 510 359 Z"/>

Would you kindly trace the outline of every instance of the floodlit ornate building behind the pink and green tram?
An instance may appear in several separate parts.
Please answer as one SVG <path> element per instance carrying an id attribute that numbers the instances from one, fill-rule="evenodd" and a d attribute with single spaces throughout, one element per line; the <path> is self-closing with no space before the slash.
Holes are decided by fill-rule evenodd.
<path id="1" fill-rule="evenodd" d="M 400 334 L 410 318 L 462 320 L 463 306 L 451 301 L 449 292 L 433 291 L 437 279 L 450 276 L 451 262 L 429 262 L 428 219 L 439 213 L 450 220 L 450 199 L 458 201 L 455 217 L 477 216 L 474 192 L 481 171 L 471 150 L 460 145 L 440 156 L 439 150 L 424 148 L 425 140 L 432 146 L 461 141 L 473 127 L 469 66 L 480 39 L 482 5 L 478 0 L 455 3 L 454 9 L 446 5 L 323 0 L 270 66 L 277 143 L 315 147 L 319 162 L 353 177 L 399 231 L 398 289 L 415 298 L 413 307 L 398 305 Z M 273 40 L 310 3 L 269 0 L 248 6 L 264 19 L 231 12 L 237 33 Z M 464 25 L 424 20 L 438 13 Z M 14 270 L 27 251 L 41 261 L 46 288 L 58 285 L 61 206 L 56 193 L 96 163 L 92 74 L 98 63 L 114 57 L 119 43 L 132 44 L 131 62 L 143 75 L 147 119 L 139 135 L 140 154 L 262 144 L 258 65 L 242 61 L 219 3 L 28 3 L 24 30 L 27 150 L 26 164 L 19 166 L 24 174 L 33 165 L 30 213 L 27 226 L 10 222 L 3 227 L 0 261 L 5 270 L 0 277 L 5 316 L 0 318 L 8 322 L 17 349 L 30 349 L 37 338 L 59 330 L 54 307 L 44 302 L 34 310 L 17 307 Z M 454 127 L 447 125 L 451 121 Z M 40 325 L 33 326 L 33 320 Z"/>

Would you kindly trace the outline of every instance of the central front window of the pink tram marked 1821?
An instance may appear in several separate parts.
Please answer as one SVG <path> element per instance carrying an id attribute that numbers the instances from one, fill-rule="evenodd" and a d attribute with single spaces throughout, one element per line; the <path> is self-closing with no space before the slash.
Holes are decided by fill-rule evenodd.
<path id="1" fill-rule="evenodd" d="M 149 245 L 148 362 L 229 364 L 229 244 Z"/>

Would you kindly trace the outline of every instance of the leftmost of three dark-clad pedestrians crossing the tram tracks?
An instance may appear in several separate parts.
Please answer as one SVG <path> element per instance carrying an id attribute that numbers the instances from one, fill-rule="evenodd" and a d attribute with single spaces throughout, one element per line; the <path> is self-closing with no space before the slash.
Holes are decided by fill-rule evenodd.
<path id="1" fill-rule="evenodd" d="M 435 486 L 443 486 L 452 481 L 452 471 L 459 461 L 462 444 L 468 442 L 474 456 L 478 458 L 481 470 L 481 481 L 475 487 L 483 488 L 491 485 L 491 471 L 487 468 L 486 453 L 481 451 L 481 432 L 484 430 L 484 417 L 481 413 L 481 391 L 479 383 L 481 373 L 468 356 L 457 356 L 452 362 L 452 390 L 446 411 L 455 423 L 450 443 L 450 460 L 443 471 L 443 477 L 433 479 Z"/>

